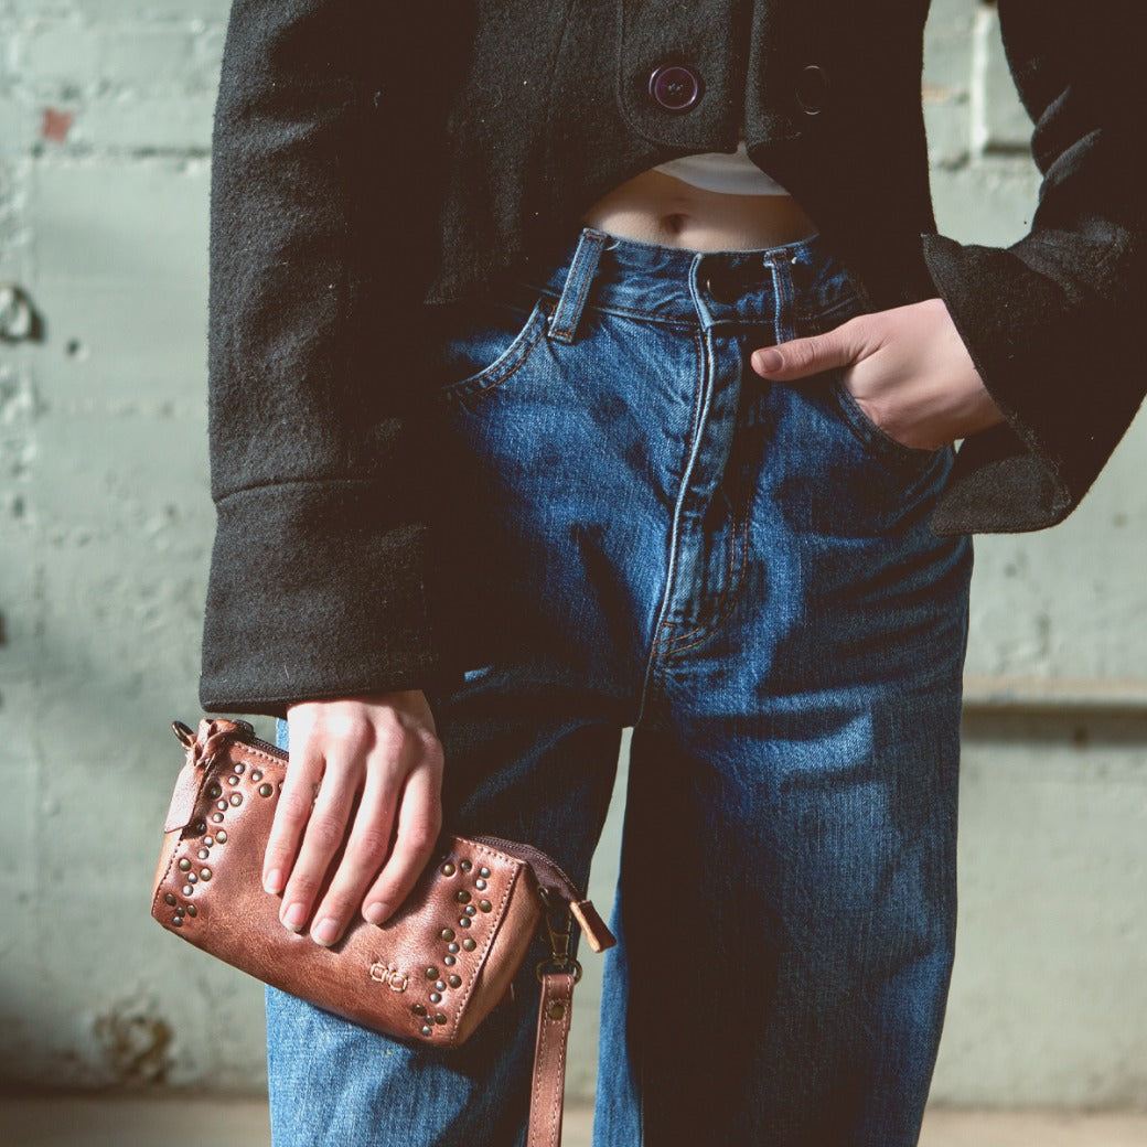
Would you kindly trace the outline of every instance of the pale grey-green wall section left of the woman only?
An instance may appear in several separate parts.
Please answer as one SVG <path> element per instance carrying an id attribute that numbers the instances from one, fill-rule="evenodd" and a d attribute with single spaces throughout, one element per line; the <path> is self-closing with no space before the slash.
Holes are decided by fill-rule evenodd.
<path id="1" fill-rule="evenodd" d="M 221 0 L 0 0 L 0 1075 L 255 1082 L 257 1000 L 149 924 L 194 716 Z M 10 296 L 9 296 L 10 299 Z M 2 320 L 0 320 L 2 321 Z M 25 323 L 26 325 L 26 323 Z M 2 328 L 0 328 L 2 329 Z M 221 969 L 220 969 L 221 970 Z"/>

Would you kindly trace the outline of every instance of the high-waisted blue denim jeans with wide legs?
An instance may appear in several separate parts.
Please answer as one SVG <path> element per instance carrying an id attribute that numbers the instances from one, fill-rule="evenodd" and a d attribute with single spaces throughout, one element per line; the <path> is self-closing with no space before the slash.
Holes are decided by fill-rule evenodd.
<path id="1" fill-rule="evenodd" d="M 908 1147 L 952 960 L 970 546 L 841 379 L 757 346 L 861 310 L 819 239 L 702 255 L 584 231 L 442 312 L 460 612 L 446 822 L 585 881 L 634 726 L 599 1147 Z M 463 1048 L 271 992 L 276 1147 L 523 1141 L 537 984 Z"/>

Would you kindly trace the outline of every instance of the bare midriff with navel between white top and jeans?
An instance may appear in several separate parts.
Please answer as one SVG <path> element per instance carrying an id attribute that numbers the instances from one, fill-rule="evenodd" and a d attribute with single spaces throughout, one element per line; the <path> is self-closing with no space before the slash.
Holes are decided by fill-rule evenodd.
<path id="1" fill-rule="evenodd" d="M 615 187 L 582 221 L 622 239 L 695 251 L 779 247 L 817 231 L 791 195 L 707 192 L 660 171 Z"/>

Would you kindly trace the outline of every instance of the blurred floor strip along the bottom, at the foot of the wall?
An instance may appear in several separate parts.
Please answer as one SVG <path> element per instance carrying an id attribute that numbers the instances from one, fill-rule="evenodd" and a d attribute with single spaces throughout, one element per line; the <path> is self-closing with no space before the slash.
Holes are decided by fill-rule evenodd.
<path id="1" fill-rule="evenodd" d="M 564 1147 L 588 1147 L 590 1111 Z M 268 1147 L 258 1100 L 0 1098 L 0 1147 Z M 1147 1147 L 1147 1114 L 929 1111 L 920 1147 Z"/>

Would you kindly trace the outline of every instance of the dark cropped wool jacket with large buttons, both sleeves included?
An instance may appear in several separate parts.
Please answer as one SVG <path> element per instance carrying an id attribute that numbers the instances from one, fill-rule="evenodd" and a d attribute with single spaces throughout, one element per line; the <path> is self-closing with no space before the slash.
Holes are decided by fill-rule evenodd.
<path id="1" fill-rule="evenodd" d="M 419 430 L 421 325 L 544 262 L 637 172 L 732 151 L 742 125 L 871 307 L 946 302 L 1007 418 L 965 442 L 934 528 L 1063 518 L 1144 393 L 1139 13 L 999 0 L 1044 180 L 1030 233 L 996 249 L 935 233 L 927 9 L 235 0 L 211 203 L 204 705 L 281 712 L 458 668 L 465 640 L 436 621 L 427 494 L 448 467 Z M 650 97 L 663 63 L 700 76 L 692 110 Z"/>

